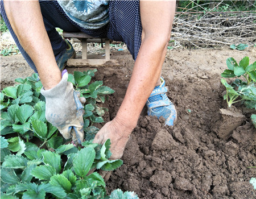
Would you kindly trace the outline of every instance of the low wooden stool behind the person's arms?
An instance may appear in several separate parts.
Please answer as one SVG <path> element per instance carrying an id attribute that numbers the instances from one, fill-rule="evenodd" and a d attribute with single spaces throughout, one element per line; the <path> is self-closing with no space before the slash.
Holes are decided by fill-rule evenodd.
<path id="1" fill-rule="evenodd" d="M 110 59 L 109 39 L 94 38 L 84 32 L 65 32 L 64 38 L 77 38 L 82 42 L 82 59 L 69 59 L 67 65 L 69 67 L 121 67 L 125 65 L 125 60 Z M 87 43 L 105 42 L 105 59 L 87 59 Z"/>

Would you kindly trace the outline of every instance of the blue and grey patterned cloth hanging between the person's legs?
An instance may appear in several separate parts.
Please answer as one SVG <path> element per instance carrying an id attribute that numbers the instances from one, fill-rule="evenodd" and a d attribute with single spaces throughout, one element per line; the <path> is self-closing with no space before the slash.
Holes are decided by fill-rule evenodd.
<path id="1" fill-rule="evenodd" d="M 109 1 L 104 0 L 57 0 L 73 22 L 79 26 L 96 29 L 109 22 Z"/>

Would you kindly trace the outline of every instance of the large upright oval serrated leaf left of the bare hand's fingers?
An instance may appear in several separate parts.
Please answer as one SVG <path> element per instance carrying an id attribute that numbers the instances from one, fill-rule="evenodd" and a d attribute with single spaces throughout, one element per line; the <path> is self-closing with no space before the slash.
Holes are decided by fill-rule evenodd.
<path id="1" fill-rule="evenodd" d="M 73 158 L 73 169 L 77 176 L 85 177 L 92 167 L 95 151 L 93 148 L 82 148 Z"/>

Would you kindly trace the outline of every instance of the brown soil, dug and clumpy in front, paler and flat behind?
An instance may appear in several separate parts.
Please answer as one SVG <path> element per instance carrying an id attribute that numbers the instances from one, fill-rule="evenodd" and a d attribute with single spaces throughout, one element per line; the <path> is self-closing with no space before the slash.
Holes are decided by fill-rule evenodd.
<path id="1" fill-rule="evenodd" d="M 220 109 L 226 108 L 220 82 L 225 60 L 240 61 L 244 56 L 253 63 L 255 48 L 168 51 L 162 76 L 177 109 L 177 122 L 164 126 L 163 119 L 148 117 L 143 109 L 123 154 L 124 164 L 108 181 L 108 192 L 133 190 L 140 198 L 256 198 L 249 184 L 256 169 L 247 168 L 256 165 L 256 132 L 249 118 L 253 111 L 236 105 L 245 118 L 227 139 L 212 130 L 221 118 Z M 125 51 L 112 52 L 112 57 L 125 59 L 126 67 L 100 68 L 94 78 L 115 90 L 104 105 L 109 108 L 106 121 L 121 105 L 134 64 Z M 75 70 L 85 68 L 68 68 L 69 73 Z M 32 73 L 22 56 L 2 57 L 3 87 Z"/>

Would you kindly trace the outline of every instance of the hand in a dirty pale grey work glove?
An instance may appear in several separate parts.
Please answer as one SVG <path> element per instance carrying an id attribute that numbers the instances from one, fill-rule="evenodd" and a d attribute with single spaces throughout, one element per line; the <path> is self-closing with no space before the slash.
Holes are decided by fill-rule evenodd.
<path id="1" fill-rule="evenodd" d="M 68 72 L 63 71 L 59 84 L 49 90 L 42 88 L 41 93 L 46 98 L 46 119 L 57 127 L 65 139 L 81 144 L 84 140 L 84 109 L 80 97 L 71 82 L 68 82 Z"/>

